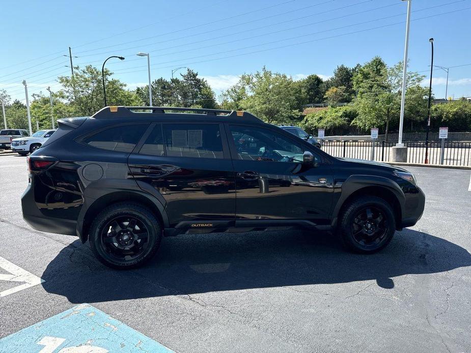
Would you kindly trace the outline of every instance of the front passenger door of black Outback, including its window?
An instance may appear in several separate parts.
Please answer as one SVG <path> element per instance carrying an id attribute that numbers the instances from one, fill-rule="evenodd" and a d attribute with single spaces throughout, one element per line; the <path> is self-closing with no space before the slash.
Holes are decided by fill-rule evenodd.
<path id="1" fill-rule="evenodd" d="M 231 125 L 228 139 L 236 173 L 237 219 L 301 219 L 328 224 L 333 174 L 315 148 L 310 152 L 316 163 L 306 168 L 302 154 L 308 148 L 289 133 Z"/>

